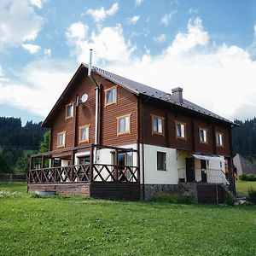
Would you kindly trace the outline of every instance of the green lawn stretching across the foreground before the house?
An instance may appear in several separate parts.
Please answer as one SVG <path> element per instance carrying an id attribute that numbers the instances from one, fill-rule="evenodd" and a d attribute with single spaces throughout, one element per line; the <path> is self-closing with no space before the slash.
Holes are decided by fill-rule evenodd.
<path id="1" fill-rule="evenodd" d="M 0 183 L 0 255 L 255 255 L 256 207 L 35 198 Z"/>

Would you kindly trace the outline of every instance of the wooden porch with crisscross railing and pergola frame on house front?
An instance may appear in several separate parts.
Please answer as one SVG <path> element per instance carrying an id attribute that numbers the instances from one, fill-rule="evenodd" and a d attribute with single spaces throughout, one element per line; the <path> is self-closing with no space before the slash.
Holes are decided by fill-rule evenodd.
<path id="1" fill-rule="evenodd" d="M 113 164 L 110 164 L 110 160 Z M 138 150 L 91 144 L 89 147 L 65 148 L 33 155 L 27 191 L 38 190 L 139 200 Z"/>

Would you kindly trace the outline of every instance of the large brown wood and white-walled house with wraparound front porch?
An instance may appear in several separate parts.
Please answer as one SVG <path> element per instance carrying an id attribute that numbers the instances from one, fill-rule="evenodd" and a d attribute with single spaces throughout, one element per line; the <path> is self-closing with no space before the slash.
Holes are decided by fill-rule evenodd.
<path id="1" fill-rule="evenodd" d="M 233 122 L 183 98 L 84 63 L 44 120 L 50 148 L 32 156 L 28 192 L 150 200 L 235 192 Z"/>

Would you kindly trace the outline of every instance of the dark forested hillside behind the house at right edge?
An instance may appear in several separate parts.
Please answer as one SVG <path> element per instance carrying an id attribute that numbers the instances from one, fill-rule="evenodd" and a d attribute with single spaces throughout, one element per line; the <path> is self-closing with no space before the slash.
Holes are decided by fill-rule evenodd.
<path id="1" fill-rule="evenodd" d="M 240 125 L 233 129 L 233 152 L 239 153 L 253 162 L 256 159 L 256 118 L 251 120 L 235 120 Z"/>

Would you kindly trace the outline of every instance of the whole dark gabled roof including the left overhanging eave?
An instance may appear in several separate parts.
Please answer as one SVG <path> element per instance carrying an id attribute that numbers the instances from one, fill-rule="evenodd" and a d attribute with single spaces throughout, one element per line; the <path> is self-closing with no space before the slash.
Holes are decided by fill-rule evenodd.
<path id="1" fill-rule="evenodd" d="M 56 108 L 59 107 L 61 100 L 65 98 L 65 96 L 68 94 L 70 91 L 71 87 L 73 86 L 73 80 L 76 78 L 76 76 L 79 74 L 79 72 L 83 69 L 83 67 L 88 68 L 88 65 L 85 63 L 82 63 L 77 72 L 73 75 L 73 78 L 67 84 L 66 89 L 62 92 L 60 98 L 58 101 L 55 103 L 54 108 L 51 109 L 49 115 L 46 117 L 44 120 L 43 126 L 48 126 L 49 125 L 49 119 L 55 113 Z M 224 119 L 223 117 L 219 116 L 216 113 L 212 113 L 211 111 L 201 108 L 200 106 L 196 105 L 195 103 L 189 102 L 185 99 L 183 99 L 183 102 L 177 102 L 173 99 L 172 94 L 166 93 L 165 91 L 155 89 L 153 87 L 150 87 L 146 84 L 141 84 L 136 81 L 133 81 L 131 79 L 126 79 L 122 76 L 119 76 L 115 73 L 108 72 L 102 68 L 99 67 L 92 67 L 91 69 L 91 74 L 96 73 L 100 76 L 102 76 L 105 79 L 108 79 L 112 81 L 114 84 L 119 84 L 120 86 L 124 87 L 126 90 L 130 90 L 132 93 L 143 96 L 150 96 L 154 99 L 163 101 L 163 102 L 168 102 L 171 104 L 174 104 L 180 108 L 186 108 L 189 109 L 190 111 L 196 112 L 196 113 L 201 113 L 202 115 L 206 115 L 208 117 L 211 117 L 213 119 L 218 119 L 221 121 L 224 121 L 225 123 L 229 123 L 230 125 L 236 125 L 234 122 L 230 121 L 229 119 Z"/>

